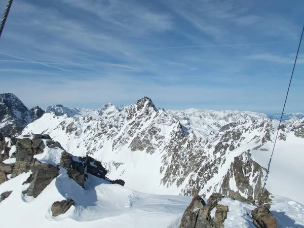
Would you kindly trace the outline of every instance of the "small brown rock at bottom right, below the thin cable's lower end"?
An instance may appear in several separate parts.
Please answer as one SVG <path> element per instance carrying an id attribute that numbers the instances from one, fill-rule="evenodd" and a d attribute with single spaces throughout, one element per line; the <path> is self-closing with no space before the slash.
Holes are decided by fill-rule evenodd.
<path id="1" fill-rule="evenodd" d="M 263 205 L 251 211 L 253 224 L 258 228 L 277 228 L 276 217 Z"/>

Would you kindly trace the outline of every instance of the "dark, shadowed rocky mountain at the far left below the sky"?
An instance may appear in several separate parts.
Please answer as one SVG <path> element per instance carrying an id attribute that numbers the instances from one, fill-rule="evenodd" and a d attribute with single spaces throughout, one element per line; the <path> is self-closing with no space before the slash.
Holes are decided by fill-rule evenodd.
<path id="1" fill-rule="evenodd" d="M 39 106 L 28 109 L 12 93 L 0 94 L 0 133 L 3 135 L 19 134 L 26 125 L 43 114 L 44 111 Z"/>

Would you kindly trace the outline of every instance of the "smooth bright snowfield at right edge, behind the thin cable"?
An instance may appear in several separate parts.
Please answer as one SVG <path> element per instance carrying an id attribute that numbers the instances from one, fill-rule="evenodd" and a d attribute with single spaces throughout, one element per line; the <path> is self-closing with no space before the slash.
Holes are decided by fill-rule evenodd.
<path id="1" fill-rule="evenodd" d="M 268 151 L 252 150 L 253 159 L 267 167 L 272 146 L 272 144 L 269 145 Z M 304 204 L 304 150 L 299 153 L 299 148 L 303 148 L 303 140 L 293 134 L 290 134 L 286 141 L 277 140 L 267 180 L 267 189 L 274 195 L 288 196 Z"/>

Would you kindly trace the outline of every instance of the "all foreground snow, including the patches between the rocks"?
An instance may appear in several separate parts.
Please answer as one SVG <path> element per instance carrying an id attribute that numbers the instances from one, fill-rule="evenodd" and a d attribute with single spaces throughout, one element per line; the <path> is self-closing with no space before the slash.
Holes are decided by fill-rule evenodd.
<path id="1" fill-rule="evenodd" d="M 43 154 L 36 155 L 36 159 L 56 164 L 61 151 L 46 147 Z M 192 200 L 191 197 L 136 192 L 90 174 L 84 189 L 70 179 L 63 168 L 37 198 L 32 198 L 22 194 L 29 186 L 29 183 L 22 183 L 30 173 L 20 174 L 0 185 L 0 193 L 13 191 L 0 203 L 4 227 L 177 228 Z M 279 228 L 304 227 L 304 205 L 281 196 L 272 198 L 271 212 L 276 215 Z M 75 205 L 65 214 L 53 217 L 51 205 L 64 199 L 73 199 Z M 251 210 L 256 206 L 229 198 L 222 199 L 219 204 L 229 207 L 225 227 L 255 227 Z"/>

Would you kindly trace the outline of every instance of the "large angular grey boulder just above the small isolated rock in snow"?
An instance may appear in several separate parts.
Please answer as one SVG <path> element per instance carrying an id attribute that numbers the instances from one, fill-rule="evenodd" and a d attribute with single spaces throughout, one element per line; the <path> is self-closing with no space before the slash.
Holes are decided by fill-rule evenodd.
<path id="1" fill-rule="evenodd" d="M 27 195 L 36 198 L 59 175 L 58 168 L 51 164 L 37 164 L 31 167 L 33 173 Z"/>

